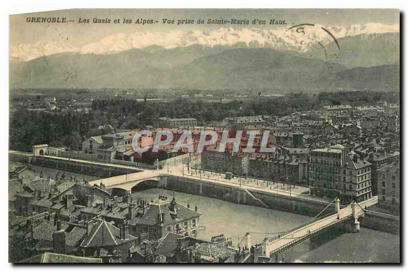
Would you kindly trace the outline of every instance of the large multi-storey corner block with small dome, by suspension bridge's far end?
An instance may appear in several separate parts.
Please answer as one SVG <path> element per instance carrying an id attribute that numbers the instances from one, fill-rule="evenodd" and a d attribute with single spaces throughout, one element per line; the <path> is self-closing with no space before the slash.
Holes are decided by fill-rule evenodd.
<path id="1" fill-rule="evenodd" d="M 309 162 L 311 194 L 342 201 L 372 197 L 371 163 L 337 144 L 311 151 Z"/>

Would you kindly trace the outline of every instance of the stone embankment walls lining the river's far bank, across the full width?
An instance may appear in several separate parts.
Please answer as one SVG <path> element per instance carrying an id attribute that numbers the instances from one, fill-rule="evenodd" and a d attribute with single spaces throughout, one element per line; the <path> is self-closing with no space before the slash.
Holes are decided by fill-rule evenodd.
<path id="1" fill-rule="evenodd" d="M 89 161 L 78 161 L 68 159 L 57 159 L 55 157 L 34 157 L 18 152 L 10 153 L 10 160 L 29 163 L 47 168 L 58 170 L 67 170 L 87 175 L 93 175 L 101 178 L 124 175 L 140 170 L 121 165 L 100 164 Z M 172 176 L 165 174 L 160 181 L 153 187 L 165 188 L 173 191 L 184 192 L 194 195 L 202 195 L 211 198 L 217 198 L 232 203 L 259 206 L 269 209 L 281 210 L 293 214 L 299 214 L 314 217 L 324 208 L 321 215 L 335 211 L 334 203 L 329 200 L 313 198 L 302 195 L 291 195 L 288 192 L 272 193 L 266 189 L 258 189 L 228 182 L 214 182 L 210 179 L 199 179 L 194 176 Z M 245 187 L 245 188 L 244 188 Z M 328 206 L 327 206 L 328 205 Z M 399 234 L 399 217 L 380 214 L 375 212 L 366 212 L 364 218 L 361 218 L 361 226 L 370 229 L 381 230 L 393 234 Z"/>

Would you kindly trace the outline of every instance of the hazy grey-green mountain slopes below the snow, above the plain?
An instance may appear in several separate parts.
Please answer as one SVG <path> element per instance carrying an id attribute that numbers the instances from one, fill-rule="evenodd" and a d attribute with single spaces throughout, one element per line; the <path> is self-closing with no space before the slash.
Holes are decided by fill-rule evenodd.
<path id="1" fill-rule="evenodd" d="M 268 38 L 270 41 L 271 38 Z M 261 40 L 262 41 L 262 40 Z M 278 42 L 279 43 L 279 42 Z M 297 50 L 281 40 L 10 61 L 10 88 L 399 89 L 399 33 L 365 33 Z M 286 44 L 286 45 L 285 45 Z"/>

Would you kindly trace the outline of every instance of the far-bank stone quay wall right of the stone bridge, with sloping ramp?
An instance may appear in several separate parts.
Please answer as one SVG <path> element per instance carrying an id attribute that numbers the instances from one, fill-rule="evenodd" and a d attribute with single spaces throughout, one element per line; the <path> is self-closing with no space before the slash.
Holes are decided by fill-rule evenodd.
<path id="1" fill-rule="evenodd" d="M 165 188 L 188 194 L 217 198 L 229 202 L 282 210 L 304 216 L 315 217 L 329 202 L 313 198 L 289 197 L 286 195 L 269 194 L 263 191 L 232 187 L 228 184 L 214 184 L 202 180 L 192 180 L 188 177 L 162 176 L 159 183 L 150 186 Z M 342 205 L 341 207 L 345 207 Z M 335 204 L 331 203 L 320 216 L 335 212 Z M 361 226 L 373 230 L 399 234 L 399 217 L 371 212 L 367 210 L 360 218 Z"/>

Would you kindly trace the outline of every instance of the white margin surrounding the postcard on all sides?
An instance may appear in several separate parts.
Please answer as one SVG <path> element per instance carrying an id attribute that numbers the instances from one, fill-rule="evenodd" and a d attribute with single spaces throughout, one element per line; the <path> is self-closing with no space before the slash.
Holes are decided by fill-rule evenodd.
<path id="1" fill-rule="evenodd" d="M 8 15 L 11 14 L 19 14 L 19 13 L 31 13 L 31 12 L 39 12 L 39 11 L 51 11 L 51 10 L 61 10 L 61 9 L 72 9 L 72 8 L 399 8 L 402 12 L 404 12 L 404 20 L 406 21 L 407 18 L 407 1 L 402 1 L 402 0 L 387 0 L 387 1 L 356 1 L 356 0 L 341 0 L 341 1 L 294 1 L 294 0 L 284 0 L 284 1 L 260 1 L 260 0 L 247 0 L 247 1 L 215 1 L 215 0 L 207 0 L 207 1 L 201 1 L 201 2 L 196 2 L 196 1 L 156 1 L 156 0 L 148 0 L 145 2 L 141 1 L 130 1 L 130 0 L 115 0 L 111 2 L 101 2 L 101 1 L 95 1 L 95 2 L 85 2 L 81 0 L 70 0 L 70 1 L 41 1 L 41 0 L 36 0 L 36 1 L 21 1 L 21 0 L 12 0 L 12 1 L 7 1 L 6 3 L 3 3 L 3 9 L 1 11 L 3 17 L 1 20 L 2 27 L 1 32 L 3 37 L 2 39 L 2 54 L 1 54 L 1 59 L 2 59 L 2 66 L 1 66 L 1 75 L 2 75 L 2 99 L 0 101 L 0 108 L 1 108 L 1 114 L 0 114 L 0 123 L 1 127 L 4 127 L 3 133 L 0 134 L 0 142 L 2 142 L 1 147 L 0 147 L 0 167 L 1 167 L 1 174 L 2 174 L 2 182 L 5 184 L 5 187 L 1 189 L 2 191 L 2 204 L 3 206 L 1 208 L 2 212 L 2 217 L 4 218 L 3 223 L 1 224 L 1 232 L 2 232 L 2 242 L 0 244 L 3 244 L 3 246 L 0 247 L 0 254 L 2 255 L 2 260 L 1 260 L 1 266 L 5 269 L 11 269 L 11 268 L 18 268 L 18 269 L 32 269 L 36 268 L 36 266 L 13 266 L 8 263 L 8 239 L 6 233 L 8 232 L 8 221 L 7 221 L 7 206 L 8 206 L 8 193 L 7 193 L 7 185 L 6 182 L 8 180 L 8 93 L 9 93 L 9 88 L 8 88 L 8 69 L 9 69 L 9 57 L 8 57 L 8 52 L 9 52 L 9 18 Z M 401 25 L 401 35 L 402 32 L 404 33 L 404 27 Z M 406 37 L 405 35 L 403 36 L 403 44 L 404 48 L 401 48 L 401 51 L 406 49 Z M 404 50 L 406 51 L 406 50 Z M 404 69 L 404 74 L 401 75 L 402 78 L 406 78 L 406 61 L 403 59 L 403 65 Z M 404 92 L 403 89 L 401 89 L 401 93 Z M 403 95 L 403 101 L 402 103 L 405 104 L 406 102 L 406 94 Z M 402 117 L 403 119 L 403 128 L 406 128 L 406 119 L 405 116 Z M 403 129 L 403 134 L 406 135 L 406 129 Z M 404 142 L 404 138 L 401 137 L 401 141 L 403 142 L 403 149 L 402 149 L 402 156 L 406 153 L 406 145 L 408 145 L 406 142 Z M 404 168 L 408 168 L 408 161 L 404 161 Z M 404 180 L 401 179 L 401 182 Z M 404 191 L 401 192 L 403 195 L 407 195 L 407 184 L 404 184 Z M 404 197 L 401 197 L 402 200 L 404 201 Z M 403 206 L 403 210 L 405 211 L 403 214 L 403 217 L 406 216 L 406 208 Z M 406 226 L 406 225 L 405 225 Z M 405 232 L 406 227 L 404 227 L 404 235 L 406 236 Z M 405 238 L 404 238 L 405 239 Z M 404 242 L 404 240 L 401 240 L 402 245 L 406 245 L 407 243 Z M 401 254 L 401 259 L 404 258 L 406 260 L 406 250 L 407 248 L 404 247 L 404 255 Z M 102 268 L 109 268 L 109 265 L 104 265 L 101 266 Z M 183 265 L 171 265 L 171 266 L 153 266 L 153 267 L 148 267 L 148 266 L 138 266 L 138 265 L 123 265 L 123 266 L 110 266 L 114 268 L 142 268 L 142 269 L 162 269 L 162 268 L 209 268 L 210 266 L 183 266 Z M 211 268 L 222 268 L 222 269 L 233 269 L 233 268 L 252 268 L 254 267 L 253 265 L 251 266 L 242 266 L 242 265 L 235 265 L 235 266 L 211 266 Z M 292 265 L 292 266 L 285 266 L 284 268 L 299 268 L 301 267 L 300 265 Z M 314 269 L 314 268 L 328 268 L 330 266 L 328 265 L 323 265 L 323 266 L 302 266 L 302 268 L 307 268 L 307 269 Z M 337 266 L 340 269 L 346 269 L 349 268 L 349 266 L 343 265 L 341 267 Z M 364 265 L 364 266 L 358 266 L 360 268 L 368 269 L 368 268 L 375 268 L 375 267 L 381 267 L 381 266 L 371 266 L 371 265 Z M 386 266 L 382 266 L 386 267 Z M 3 269 L 2 268 L 2 269 Z M 99 266 L 85 266 L 85 265 L 78 265 L 78 266 L 48 266 L 48 268 L 75 268 L 75 269 L 82 269 L 85 270 L 88 268 L 96 269 L 100 268 Z M 259 266 L 258 268 L 283 268 L 277 267 L 276 265 L 273 266 Z M 387 268 L 390 268 L 390 266 L 387 266 Z M 4 270 L 4 269 L 3 269 Z"/>

